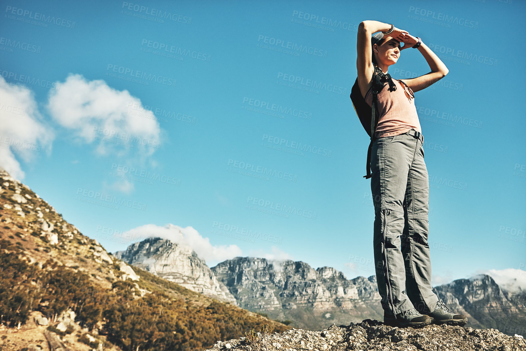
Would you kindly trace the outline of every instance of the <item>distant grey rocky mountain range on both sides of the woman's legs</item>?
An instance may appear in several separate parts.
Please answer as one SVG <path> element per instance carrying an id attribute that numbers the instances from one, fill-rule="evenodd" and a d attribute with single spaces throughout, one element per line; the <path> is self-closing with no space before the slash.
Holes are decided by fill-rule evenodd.
<path id="1" fill-rule="evenodd" d="M 235 257 L 208 268 L 191 249 L 160 238 L 130 245 L 115 256 L 188 289 L 233 300 L 241 308 L 289 320 L 299 328 L 321 330 L 331 323 L 383 318 L 376 276 L 347 279 L 332 267 L 314 269 L 301 261 L 257 257 Z M 434 292 L 467 315 L 468 326 L 526 334 L 526 293 L 504 290 L 489 275 L 458 279 Z"/>

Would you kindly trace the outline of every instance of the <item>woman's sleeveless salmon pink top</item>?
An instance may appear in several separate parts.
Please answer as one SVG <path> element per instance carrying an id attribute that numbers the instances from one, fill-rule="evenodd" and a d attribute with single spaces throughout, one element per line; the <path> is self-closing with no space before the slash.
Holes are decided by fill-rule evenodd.
<path id="1" fill-rule="evenodd" d="M 380 118 L 376 128 L 376 137 L 399 135 L 411 129 L 422 133 L 411 88 L 406 87 L 399 79 L 393 79 L 393 82 L 395 82 L 396 91 L 390 92 L 389 84 L 386 82 L 377 95 L 376 108 L 380 112 Z M 365 101 L 372 107 L 372 87 L 366 93 Z"/>

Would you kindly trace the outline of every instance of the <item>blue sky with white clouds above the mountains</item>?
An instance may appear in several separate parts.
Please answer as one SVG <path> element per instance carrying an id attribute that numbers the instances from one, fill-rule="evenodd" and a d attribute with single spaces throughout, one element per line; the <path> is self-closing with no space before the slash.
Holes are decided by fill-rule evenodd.
<path id="1" fill-rule="evenodd" d="M 433 284 L 525 269 L 525 51 L 508 37 L 524 2 L 1 4 L 0 162 L 108 250 L 159 234 L 211 266 L 372 275 L 369 139 L 349 94 L 358 24 L 375 19 L 449 69 L 415 99 Z M 388 73 L 429 71 L 407 49 Z"/>

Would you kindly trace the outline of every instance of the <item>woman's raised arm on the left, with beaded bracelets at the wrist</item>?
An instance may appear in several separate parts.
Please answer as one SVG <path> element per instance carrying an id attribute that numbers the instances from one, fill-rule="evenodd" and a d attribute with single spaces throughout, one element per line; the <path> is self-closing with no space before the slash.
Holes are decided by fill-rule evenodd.
<path id="1" fill-rule="evenodd" d="M 372 85 L 372 74 L 375 68 L 372 66 L 371 35 L 376 32 L 387 32 L 391 25 L 378 21 L 363 21 L 358 26 L 356 69 L 358 71 L 358 85 L 362 96 L 365 96 Z M 394 28 L 389 36 L 401 41 L 407 31 Z"/>

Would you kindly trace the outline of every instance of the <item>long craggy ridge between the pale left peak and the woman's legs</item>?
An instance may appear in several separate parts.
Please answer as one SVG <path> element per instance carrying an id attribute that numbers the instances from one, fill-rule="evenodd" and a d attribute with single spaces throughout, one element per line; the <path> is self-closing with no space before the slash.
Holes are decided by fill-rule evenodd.
<path id="1" fill-rule="evenodd" d="M 229 259 L 211 270 L 242 308 L 293 320 L 302 328 L 383 317 L 375 276 L 349 280 L 331 267 L 256 257 Z"/>

